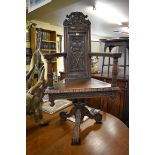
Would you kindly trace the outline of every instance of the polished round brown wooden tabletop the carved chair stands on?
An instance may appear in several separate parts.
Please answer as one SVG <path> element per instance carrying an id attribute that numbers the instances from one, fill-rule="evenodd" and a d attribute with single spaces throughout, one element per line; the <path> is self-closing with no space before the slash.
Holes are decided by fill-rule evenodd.
<path id="1" fill-rule="evenodd" d="M 69 108 L 68 108 L 69 109 Z M 62 122 L 59 112 L 44 114 L 50 120 L 40 127 L 27 116 L 26 155 L 128 155 L 129 130 L 116 117 L 103 113 L 103 123 L 88 119 L 81 124 L 81 145 L 71 145 L 74 123 Z"/>

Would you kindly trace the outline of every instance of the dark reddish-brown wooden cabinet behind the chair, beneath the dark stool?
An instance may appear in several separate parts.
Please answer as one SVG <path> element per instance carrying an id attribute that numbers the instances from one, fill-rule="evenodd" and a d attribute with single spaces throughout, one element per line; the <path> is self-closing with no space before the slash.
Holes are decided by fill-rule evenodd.
<path id="1" fill-rule="evenodd" d="M 112 75 L 104 74 L 92 74 L 92 78 L 104 81 L 107 83 L 112 82 Z M 60 79 L 64 79 L 65 73 L 60 72 Z M 113 103 L 111 97 L 93 97 L 87 98 L 85 102 L 87 105 L 101 109 L 102 111 L 108 112 L 117 118 L 121 119 L 128 125 L 129 123 L 129 80 L 128 78 L 119 77 L 117 78 L 117 86 L 120 91 L 116 93 L 116 99 Z"/>

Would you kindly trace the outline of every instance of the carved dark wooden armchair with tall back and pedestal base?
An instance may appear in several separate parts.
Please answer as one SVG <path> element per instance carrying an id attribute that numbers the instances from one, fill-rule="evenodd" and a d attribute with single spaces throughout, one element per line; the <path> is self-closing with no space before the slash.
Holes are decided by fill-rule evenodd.
<path id="1" fill-rule="evenodd" d="M 50 101 L 55 99 L 73 99 L 74 107 L 70 112 L 61 112 L 61 120 L 75 115 L 75 128 L 72 144 L 80 144 L 80 123 L 84 116 L 102 123 L 100 113 L 90 112 L 83 102 L 83 98 L 95 96 L 115 96 L 119 90 L 116 86 L 117 62 L 120 53 L 91 53 L 90 21 L 82 12 L 72 12 L 66 16 L 64 25 L 64 53 L 44 55 L 48 60 L 48 88 L 46 93 Z M 52 59 L 64 57 L 65 79 L 53 84 Z M 91 78 L 91 56 L 113 57 L 112 84 Z M 95 104 L 95 103 L 94 103 Z"/>

